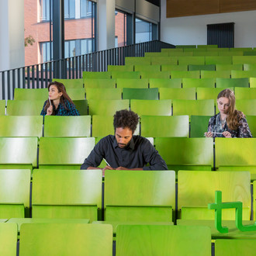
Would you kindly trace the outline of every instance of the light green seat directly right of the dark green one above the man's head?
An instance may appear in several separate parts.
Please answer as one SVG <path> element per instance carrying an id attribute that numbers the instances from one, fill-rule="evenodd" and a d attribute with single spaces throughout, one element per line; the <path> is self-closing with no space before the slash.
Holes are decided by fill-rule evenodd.
<path id="1" fill-rule="evenodd" d="M 195 99 L 195 88 L 159 88 L 159 99 Z"/>

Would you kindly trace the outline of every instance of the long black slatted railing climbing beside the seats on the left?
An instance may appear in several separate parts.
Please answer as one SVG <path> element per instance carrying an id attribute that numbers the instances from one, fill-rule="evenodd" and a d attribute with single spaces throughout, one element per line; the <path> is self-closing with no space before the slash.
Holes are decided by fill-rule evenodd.
<path id="1" fill-rule="evenodd" d="M 154 40 L 0 71 L 0 95 L 2 94 L 2 99 L 13 99 L 15 88 L 47 88 L 52 78 L 82 78 L 83 71 L 107 71 L 108 65 L 125 64 L 125 57 L 144 57 L 145 52 L 159 52 L 161 48 L 174 47 Z"/>

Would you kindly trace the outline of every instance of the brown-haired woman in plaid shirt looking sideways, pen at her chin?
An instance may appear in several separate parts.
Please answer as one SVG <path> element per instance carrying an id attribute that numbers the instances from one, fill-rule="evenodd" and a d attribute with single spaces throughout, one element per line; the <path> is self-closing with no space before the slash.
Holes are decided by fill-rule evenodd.
<path id="1" fill-rule="evenodd" d="M 43 104 L 41 116 L 80 116 L 62 83 L 50 82 L 48 92 L 49 99 Z"/>

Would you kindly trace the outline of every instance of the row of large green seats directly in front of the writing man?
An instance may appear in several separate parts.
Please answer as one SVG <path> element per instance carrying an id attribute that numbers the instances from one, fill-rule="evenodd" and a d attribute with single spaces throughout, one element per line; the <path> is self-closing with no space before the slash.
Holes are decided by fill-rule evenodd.
<path id="1" fill-rule="evenodd" d="M 175 171 L 107 170 L 103 193 L 101 170 L 37 169 L 32 190 L 29 170 L 4 169 L 0 177 L 1 219 L 29 217 L 30 200 L 36 219 L 88 219 L 91 223 L 102 216 L 113 223 L 171 223 L 175 217 L 214 220 L 208 203 L 214 202 L 215 191 L 220 190 L 223 202 L 243 202 L 243 220 L 251 220 L 249 171 L 178 171 L 177 192 Z M 235 220 L 235 209 L 223 209 L 223 220 Z"/>

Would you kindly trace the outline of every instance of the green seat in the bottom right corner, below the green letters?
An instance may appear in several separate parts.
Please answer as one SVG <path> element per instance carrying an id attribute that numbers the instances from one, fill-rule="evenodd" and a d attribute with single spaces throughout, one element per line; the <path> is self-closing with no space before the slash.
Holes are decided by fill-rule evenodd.
<path id="1" fill-rule="evenodd" d="M 216 256 L 233 256 L 255 254 L 256 243 L 253 239 L 216 239 L 215 241 Z"/>

